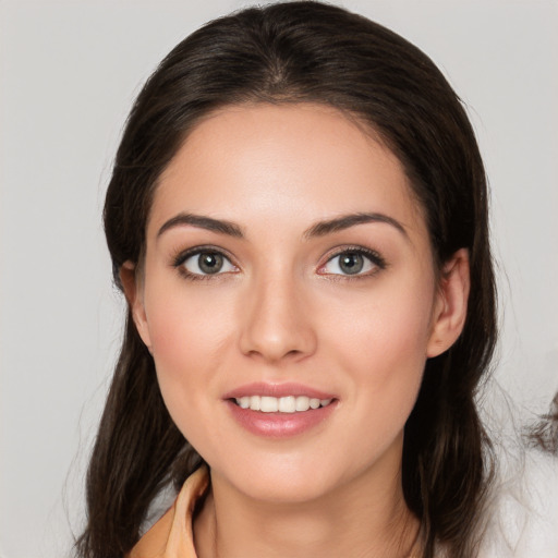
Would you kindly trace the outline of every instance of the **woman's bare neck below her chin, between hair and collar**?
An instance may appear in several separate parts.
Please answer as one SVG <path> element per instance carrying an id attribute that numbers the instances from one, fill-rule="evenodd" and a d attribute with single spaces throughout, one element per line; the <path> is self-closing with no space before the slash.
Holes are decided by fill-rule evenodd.
<path id="1" fill-rule="evenodd" d="M 213 472 L 211 492 L 194 524 L 198 558 L 402 558 L 417 532 L 400 474 L 386 482 L 374 471 L 296 504 L 254 500 Z"/>

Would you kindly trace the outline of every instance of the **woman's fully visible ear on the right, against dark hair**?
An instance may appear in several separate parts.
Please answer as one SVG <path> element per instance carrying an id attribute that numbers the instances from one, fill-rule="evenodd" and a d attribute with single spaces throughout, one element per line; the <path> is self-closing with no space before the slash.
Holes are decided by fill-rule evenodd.
<path id="1" fill-rule="evenodd" d="M 434 303 L 430 338 L 426 356 L 438 356 L 459 338 L 466 317 L 469 290 L 469 251 L 458 250 L 444 265 L 440 284 Z"/>

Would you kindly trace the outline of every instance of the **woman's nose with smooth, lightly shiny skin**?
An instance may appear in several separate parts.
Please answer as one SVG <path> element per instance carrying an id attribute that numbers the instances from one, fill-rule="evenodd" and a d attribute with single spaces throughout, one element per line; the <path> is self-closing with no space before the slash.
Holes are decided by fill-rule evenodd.
<path id="1" fill-rule="evenodd" d="M 314 353 L 316 331 L 304 288 L 293 277 L 262 277 L 251 286 L 240 312 L 243 354 L 269 363 L 302 360 Z"/>

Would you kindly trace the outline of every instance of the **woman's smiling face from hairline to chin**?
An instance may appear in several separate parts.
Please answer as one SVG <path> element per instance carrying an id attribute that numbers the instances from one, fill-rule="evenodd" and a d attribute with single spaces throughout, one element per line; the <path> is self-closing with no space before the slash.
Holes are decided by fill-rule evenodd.
<path id="1" fill-rule="evenodd" d="M 268 501 L 397 476 L 425 361 L 449 342 L 410 192 L 393 154 L 331 108 L 229 107 L 189 135 L 128 294 L 214 476 Z"/>

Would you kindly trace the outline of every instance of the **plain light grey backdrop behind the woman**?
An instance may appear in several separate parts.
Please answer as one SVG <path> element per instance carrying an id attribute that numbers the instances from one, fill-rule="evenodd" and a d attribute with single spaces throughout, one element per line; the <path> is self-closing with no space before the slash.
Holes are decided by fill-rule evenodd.
<path id="1" fill-rule="evenodd" d="M 123 316 L 100 211 L 126 112 L 179 40 L 247 3 L 0 1 L 2 558 L 60 558 L 83 519 Z M 487 400 L 529 422 L 558 388 L 558 3 L 338 3 L 415 43 L 468 106 L 499 268 Z"/>

